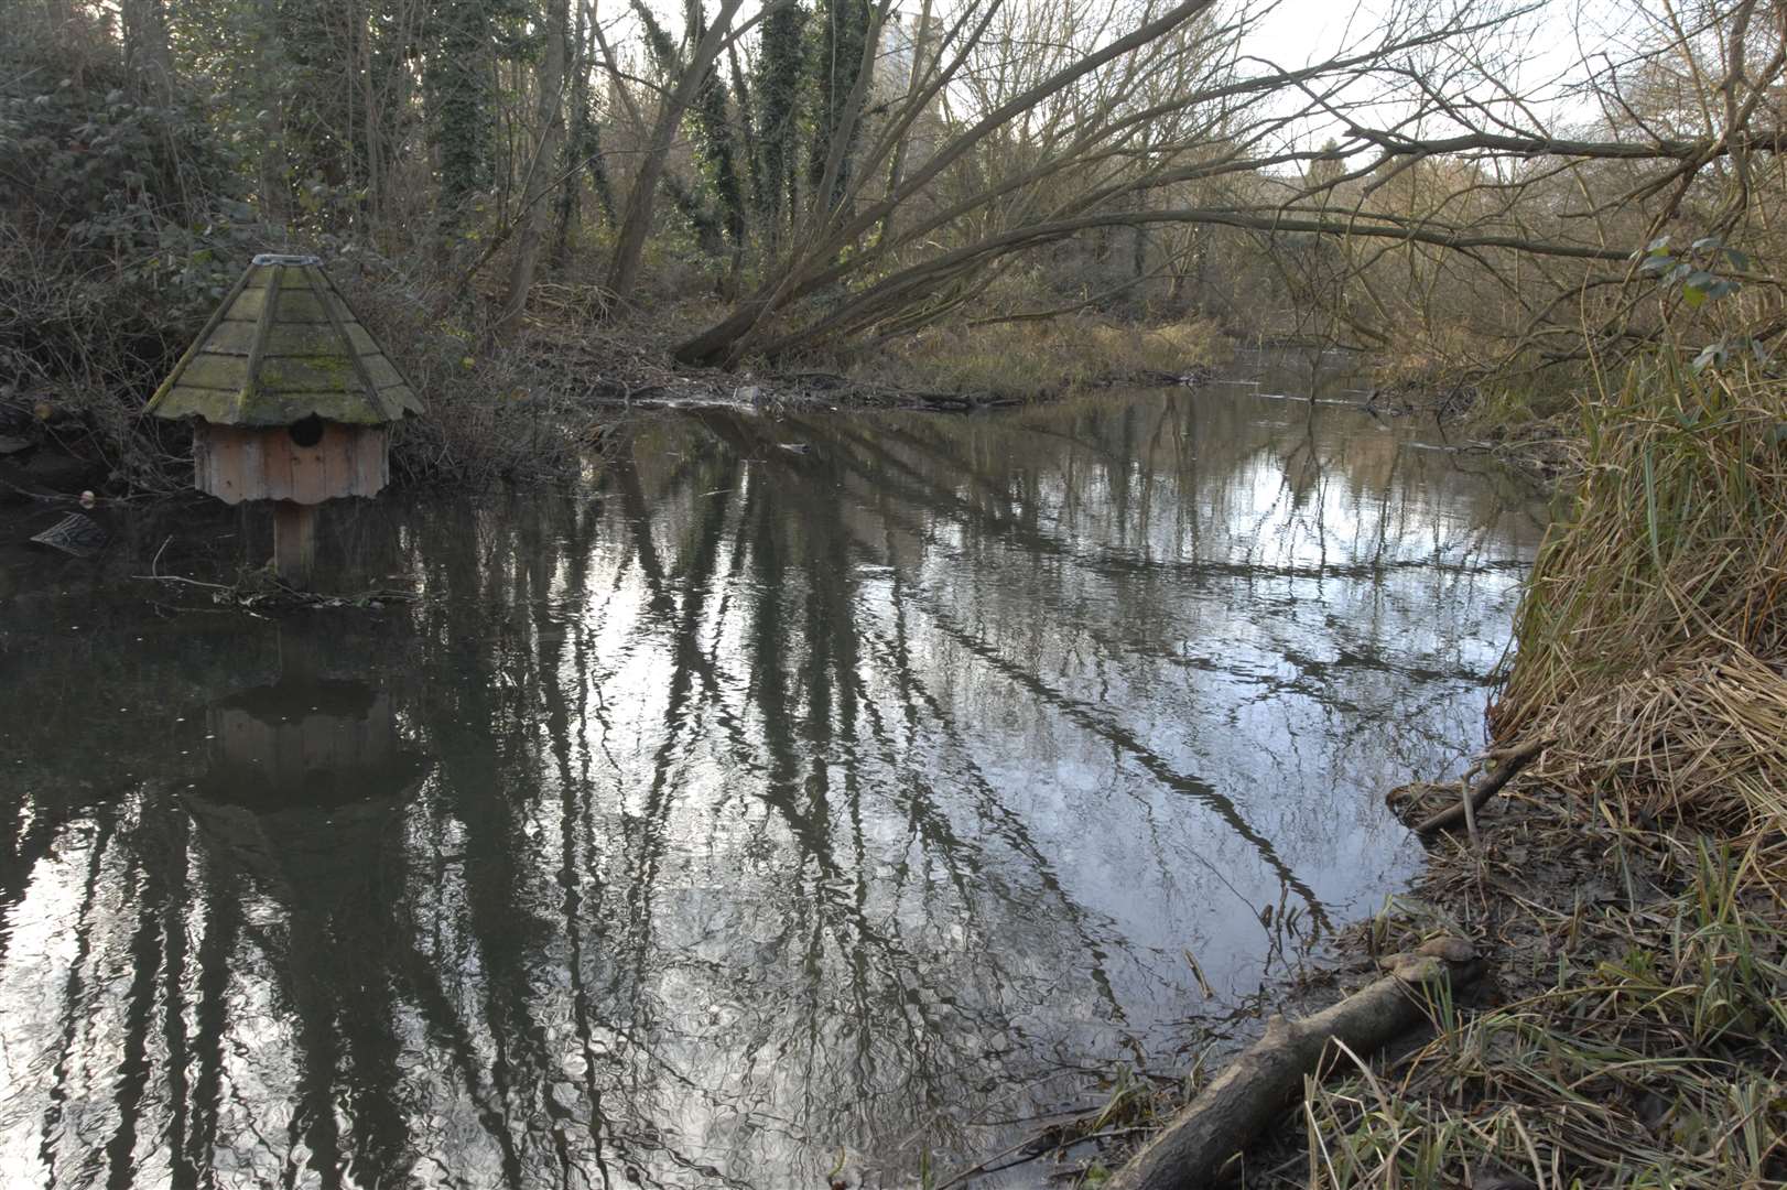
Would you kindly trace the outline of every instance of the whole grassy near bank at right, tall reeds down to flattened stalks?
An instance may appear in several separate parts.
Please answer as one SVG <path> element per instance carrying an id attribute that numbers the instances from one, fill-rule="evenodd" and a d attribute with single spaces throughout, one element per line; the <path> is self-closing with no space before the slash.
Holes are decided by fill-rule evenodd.
<path id="1" fill-rule="evenodd" d="M 1787 384 L 1640 363 L 1580 452 L 1490 713 L 1553 743 L 1362 931 L 1462 929 L 1496 990 L 1312 1081 L 1253 1185 L 1787 1185 Z"/>

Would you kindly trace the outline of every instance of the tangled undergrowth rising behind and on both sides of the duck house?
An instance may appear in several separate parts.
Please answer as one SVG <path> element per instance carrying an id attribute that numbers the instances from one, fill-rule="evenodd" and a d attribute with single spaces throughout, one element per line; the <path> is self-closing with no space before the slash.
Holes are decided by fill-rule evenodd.
<path id="1" fill-rule="evenodd" d="M 29 30 L 0 46 L 0 434 L 14 457 L 79 459 L 105 495 L 189 486 L 189 431 L 143 406 L 254 254 L 282 250 L 325 257 L 424 393 L 427 415 L 393 447 L 400 477 L 575 466 L 575 425 L 563 425 L 575 377 L 459 327 L 450 311 L 465 302 L 441 300 L 434 266 L 402 272 L 264 223 L 207 127 L 202 96 L 148 102 L 111 57 Z"/>

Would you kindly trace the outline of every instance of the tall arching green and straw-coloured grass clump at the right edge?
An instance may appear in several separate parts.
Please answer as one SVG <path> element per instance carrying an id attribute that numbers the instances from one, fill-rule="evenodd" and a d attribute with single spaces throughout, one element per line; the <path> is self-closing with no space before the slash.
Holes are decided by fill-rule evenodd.
<path id="1" fill-rule="evenodd" d="M 1496 736 L 1555 738 L 1537 775 L 1628 820 L 1787 842 L 1787 382 L 1642 361 L 1581 450 Z"/>

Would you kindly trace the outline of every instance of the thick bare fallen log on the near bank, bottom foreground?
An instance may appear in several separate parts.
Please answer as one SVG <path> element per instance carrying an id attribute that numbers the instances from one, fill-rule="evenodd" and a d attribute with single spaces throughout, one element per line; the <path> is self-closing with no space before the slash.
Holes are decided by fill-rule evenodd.
<path id="1" fill-rule="evenodd" d="M 1204 1190 L 1228 1181 L 1240 1172 L 1240 1152 L 1297 1097 L 1333 1042 L 1369 1056 L 1426 1020 L 1442 986 L 1462 988 L 1481 974 L 1471 945 L 1456 938 L 1435 938 L 1383 965 L 1388 976 L 1313 1017 L 1267 1020 L 1265 1036 L 1129 1158 L 1108 1190 Z"/>

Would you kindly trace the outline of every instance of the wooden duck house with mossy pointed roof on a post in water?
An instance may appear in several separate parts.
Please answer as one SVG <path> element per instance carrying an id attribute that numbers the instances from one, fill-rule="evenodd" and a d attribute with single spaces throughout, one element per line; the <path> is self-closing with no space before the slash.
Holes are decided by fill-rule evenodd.
<path id="1" fill-rule="evenodd" d="M 263 254 L 229 291 L 148 413 L 193 422 L 193 482 L 225 504 L 273 502 L 273 568 L 307 582 L 316 506 L 377 495 L 390 427 L 422 402 L 315 256 Z"/>

